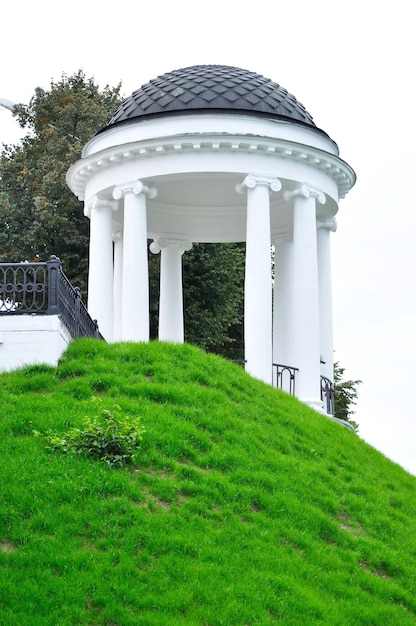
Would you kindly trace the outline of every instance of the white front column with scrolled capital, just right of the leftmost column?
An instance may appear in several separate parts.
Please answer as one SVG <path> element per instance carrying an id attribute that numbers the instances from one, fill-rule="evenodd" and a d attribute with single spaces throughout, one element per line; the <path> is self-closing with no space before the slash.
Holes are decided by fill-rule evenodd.
<path id="1" fill-rule="evenodd" d="M 113 197 L 124 197 L 121 338 L 149 341 L 149 269 L 147 263 L 146 195 L 156 190 L 141 181 L 118 186 Z"/>

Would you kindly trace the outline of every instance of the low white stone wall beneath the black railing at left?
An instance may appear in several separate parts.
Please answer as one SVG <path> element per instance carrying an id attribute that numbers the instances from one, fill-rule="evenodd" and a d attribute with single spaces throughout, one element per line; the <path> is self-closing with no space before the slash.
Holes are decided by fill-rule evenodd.
<path id="1" fill-rule="evenodd" d="M 58 315 L 0 315 L 0 372 L 56 365 L 70 341 Z"/>

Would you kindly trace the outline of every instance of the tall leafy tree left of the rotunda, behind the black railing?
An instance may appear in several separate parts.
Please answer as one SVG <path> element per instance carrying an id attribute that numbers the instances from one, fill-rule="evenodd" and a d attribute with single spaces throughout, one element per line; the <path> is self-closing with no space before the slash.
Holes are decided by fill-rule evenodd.
<path id="1" fill-rule="evenodd" d="M 38 87 L 14 115 L 28 134 L 0 155 L 0 248 L 3 262 L 60 257 L 84 296 L 89 220 L 68 189 L 68 168 L 105 124 L 122 98 L 121 85 L 100 90 L 82 71 Z"/>

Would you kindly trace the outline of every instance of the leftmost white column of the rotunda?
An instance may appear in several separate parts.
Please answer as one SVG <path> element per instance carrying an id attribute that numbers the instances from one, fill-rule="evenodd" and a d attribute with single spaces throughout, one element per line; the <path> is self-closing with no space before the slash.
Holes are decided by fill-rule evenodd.
<path id="1" fill-rule="evenodd" d="M 112 213 L 116 203 L 95 196 L 86 205 L 90 218 L 88 312 L 98 321 L 107 341 L 113 340 L 113 236 Z"/>

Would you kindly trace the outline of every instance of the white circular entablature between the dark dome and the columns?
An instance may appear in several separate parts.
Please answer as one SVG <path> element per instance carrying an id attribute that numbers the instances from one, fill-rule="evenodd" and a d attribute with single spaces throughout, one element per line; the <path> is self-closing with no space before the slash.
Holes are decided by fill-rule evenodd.
<path id="1" fill-rule="evenodd" d="M 303 163 L 327 174 L 334 181 L 339 198 L 343 198 L 354 185 L 354 171 L 339 158 L 334 142 L 320 135 L 316 137 L 316 132 L 308 128 L 293 128 L 287 122 L 273 120 L 270 123 L 243 116 L 237 120 L 238 128 L 235 118 L 226 114 L 190 117 L 193 118 L 192 125 L 188 124 L 190 120 L 184 124 L 183 117 L 179 116 L 173 116 L 167 122 L 160 119 L 146 122 L 144 137 L 143 132 L 135 132 L 140 128 L 132 126 L 127 130 L 125 127 L 111 129 L 105 136 L 94 137 L 84 148 L 83 159 L 69 171 L 71 188 L 80 200 L 85 200 L 86 188 L 95 173 L 115 164 L 137 162 L 161 154 L 172 155 L 176 160 L 180 152 L 193 155 L 221 152 L 232 158 L 236 154 L 256 152 L 266 157 L 278 157 L 288 164 Z M 201 122 L 199 128 L 196 125 L 198 121 Z M 173 126 L 172 122 L 176 122 L 177 126 Z M 153 136 L 148 136 L 152 135 L 152 130 Z M 223 167 L 228 171 L 226 163 Z M 152 175 L 151 169 L 148 174 Z"/>

